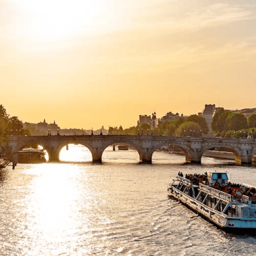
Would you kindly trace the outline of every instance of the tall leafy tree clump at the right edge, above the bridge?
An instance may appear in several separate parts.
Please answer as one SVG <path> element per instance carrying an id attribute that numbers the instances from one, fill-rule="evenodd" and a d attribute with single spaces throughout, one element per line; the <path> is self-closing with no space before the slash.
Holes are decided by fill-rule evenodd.
<path id="1" fill-rule="evenodd" d="M 256 138 L 256 114 L 246 118 L 242 113 L 221 109 L 213 116 L 211 126 L 216 137 Z"/>

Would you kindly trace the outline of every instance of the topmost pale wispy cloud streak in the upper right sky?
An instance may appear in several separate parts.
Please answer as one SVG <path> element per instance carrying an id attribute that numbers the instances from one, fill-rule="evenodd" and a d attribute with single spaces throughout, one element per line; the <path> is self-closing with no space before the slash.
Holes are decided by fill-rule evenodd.
<path id="1" fill-rule="evenodd" d="M 170 4 L 166 4 L 170 2 Z M 199 7 L 196 11 L 173 13 L 171 11 L 173 1 L 164 1 L 162 5 L 158 5 L 158 17 L 156 12 L 151 11 L 149 15 L 154 15 L 154 19 L 148 23 L 148 27 L 158 29 L 168 29 L 170 31 L 198 31 L 210 27 L 218 27 L 228 25 L 230 23 L 253 20 L 256 18 L 255 5 L 249 4 L 227 4 L 218 3 L 205 7 Z M 174 1 L 177 2 L 177 1 Z M 181 3 L 176 3 L 176 6 Z M 161 10 L 164 7 L 164 10 Z M 161 11 L 160 11 L 161 10 Z"/>

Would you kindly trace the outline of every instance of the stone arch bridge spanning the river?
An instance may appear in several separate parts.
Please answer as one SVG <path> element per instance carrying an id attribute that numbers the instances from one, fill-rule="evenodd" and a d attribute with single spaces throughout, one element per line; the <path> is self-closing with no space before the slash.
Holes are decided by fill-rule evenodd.
<path id="1" fill-rule="evenodd" d="M 129 145 L 137 149 L 140 161 L 151 163 L 154 151 L 162 146 L 180 148 L 186 162 L 201 163 L 206 150 L 225 148 L 233 152 L 235 162 L 251 163 L 256 154 L 256 139 L 226 139 L 206 137 L 170 137 L 155 135 L 45 135 L 11 136 L 4 147 L 7 155 L 22 148 L 40 145 L 49 154 L 49 162 L 58 162 L 60 150 L 70 143 L 77 143 L 89 148 L 93 162 L 101 163 L 103 151 L 113 144 Z"/>

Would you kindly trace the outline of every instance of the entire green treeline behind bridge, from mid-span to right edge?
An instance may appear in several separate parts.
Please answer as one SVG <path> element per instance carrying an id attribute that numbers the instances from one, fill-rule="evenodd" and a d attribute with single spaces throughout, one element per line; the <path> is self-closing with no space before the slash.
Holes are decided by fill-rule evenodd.
<path id="1" fill-rule="evenodd" d="M 247 138 L 251 135 L 256 138 L 256 114 L 246 118 L 242 113 L 233 113 L 221 109 L 213 116 L 211 123 L 215 137 Z M 209 133 L 207 122 L 203 116 L 191 115 L 187 118 L 179 117 L 173 121 L 165 121 L 151 129 L 150 125 L 142 124 L 128 129 L 109 127 L 109 134 L 123 135 L 165 135 L 165 136 L 202 136 Z"/>

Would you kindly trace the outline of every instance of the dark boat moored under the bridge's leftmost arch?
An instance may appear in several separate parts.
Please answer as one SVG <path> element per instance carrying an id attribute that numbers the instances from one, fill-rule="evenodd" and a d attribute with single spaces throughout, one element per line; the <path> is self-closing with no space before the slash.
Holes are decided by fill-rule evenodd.
<path id="1" fill-rule="evenodd" d="M 20 164 L 36 164 L 45 163 L 45 151 L 43 149 L 23 149 L 15 151 L 14 156 L 17 156 L 17 162 Z"/>

